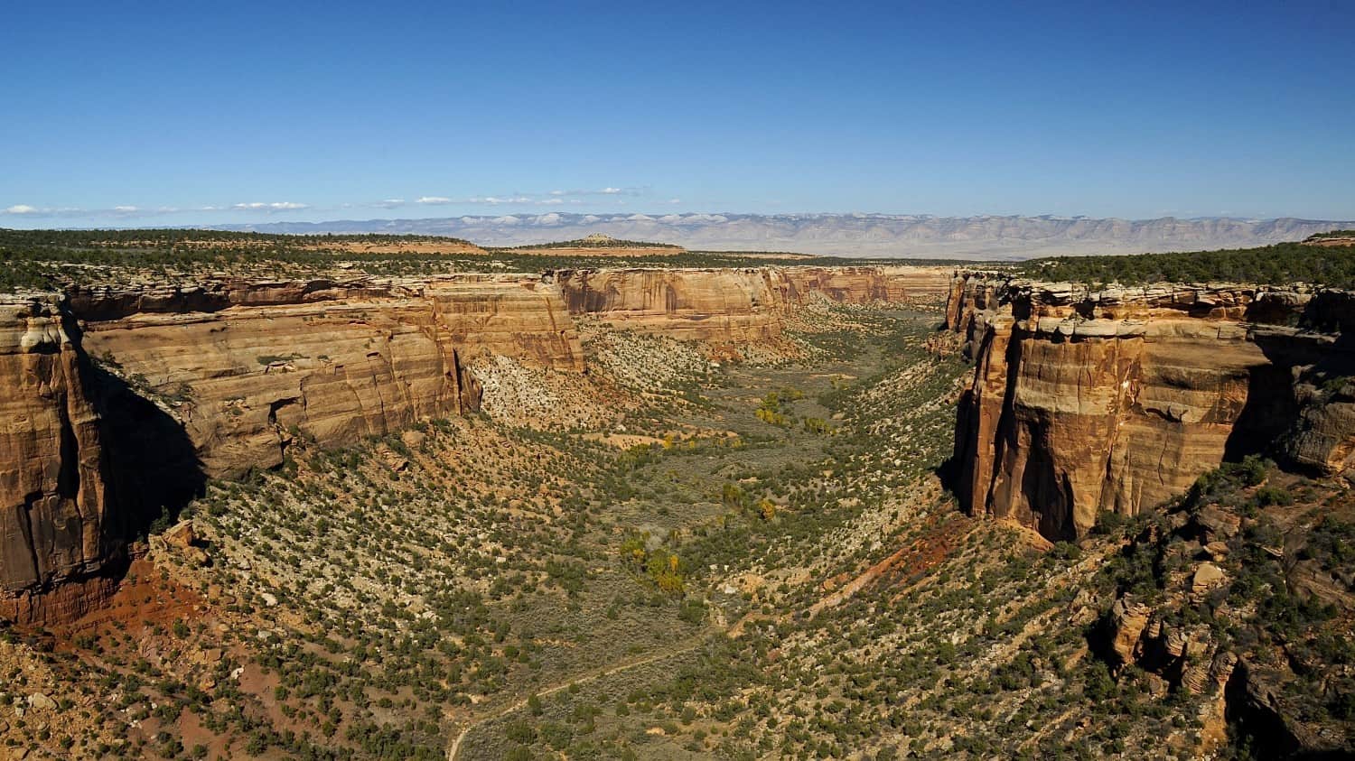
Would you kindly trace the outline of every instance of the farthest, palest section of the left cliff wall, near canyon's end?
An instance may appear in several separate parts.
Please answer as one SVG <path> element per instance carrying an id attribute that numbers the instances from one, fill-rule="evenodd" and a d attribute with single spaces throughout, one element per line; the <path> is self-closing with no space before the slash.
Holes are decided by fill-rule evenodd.
<path id="1" fill-rule="evenodd" d="M 840 303 L 946 294 L 936 267 L 760 267 L 748 269 L 561 269 L 547 275 L 570 314 L 682 340 L 741 344 L 776 339 L 783 318 L 818 295 Z"/>

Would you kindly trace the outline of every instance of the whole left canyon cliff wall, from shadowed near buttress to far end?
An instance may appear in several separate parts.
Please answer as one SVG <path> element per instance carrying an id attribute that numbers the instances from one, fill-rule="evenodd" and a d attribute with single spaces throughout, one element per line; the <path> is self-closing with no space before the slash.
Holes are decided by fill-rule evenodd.
<path id="1" fill-rule="evenodd" d="M 207 478 L 279 464 L 295 436 L 354 443 L 478 409 L 467 367 L 584 372 L 575 318 L 733 347 L 813 294 L 939 299 L 935 267 L 70 288 L 0 297 L 0 619 L 79 616 L 129 543 Z"/>

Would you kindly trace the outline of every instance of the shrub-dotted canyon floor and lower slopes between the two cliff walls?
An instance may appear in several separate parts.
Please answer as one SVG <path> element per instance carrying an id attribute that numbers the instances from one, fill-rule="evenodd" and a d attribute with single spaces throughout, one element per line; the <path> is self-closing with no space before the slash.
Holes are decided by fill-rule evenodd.
<path id="1" fill-rule="evenodd" d="M 936 305 L 939 307 L 939 305 Z M 939 309 L 783 343 L 581 324 L 587 376 L 213 482 L 114 604 L 0 642 L 12 757 L 1195 757 L 1220 700 L 1088 655 L 1080 581 L 936 477 L 970 372 Z M 524 412 L 526 410 L 526 412 Z M 39 696 L 39 697 L 30 697 Z"/>

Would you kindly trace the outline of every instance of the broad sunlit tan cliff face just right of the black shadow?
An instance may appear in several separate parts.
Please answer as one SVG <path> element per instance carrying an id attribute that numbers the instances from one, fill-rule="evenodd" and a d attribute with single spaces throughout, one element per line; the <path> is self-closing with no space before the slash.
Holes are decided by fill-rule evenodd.
<path id="1" fill-rule="evenodd" d="M 467 363 L 583 370 L 560 290 L 533 278 L 79 292 L 84 345 L 182 420 L 209 475 L 476 409 Z"/>

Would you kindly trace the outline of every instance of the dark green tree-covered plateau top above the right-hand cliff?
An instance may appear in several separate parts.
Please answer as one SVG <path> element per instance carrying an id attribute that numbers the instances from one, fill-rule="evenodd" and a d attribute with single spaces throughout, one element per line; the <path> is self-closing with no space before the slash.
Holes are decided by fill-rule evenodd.
<path id="1" fill-rule="evenodd" d="M 1337 232 L 1339 233 L 1339 232 Z M 1332 233 L 1336 234 L 1336 233 Z M 1060 256 L 1022 263 L 1024 278 L 1088 284 L 1142 283 L 1310 283 L 1355 288 L 1355 249 L 1304 242 L 1262 248 L 1142 253 L 1134 256 Z"/>

